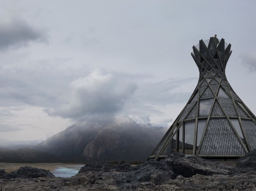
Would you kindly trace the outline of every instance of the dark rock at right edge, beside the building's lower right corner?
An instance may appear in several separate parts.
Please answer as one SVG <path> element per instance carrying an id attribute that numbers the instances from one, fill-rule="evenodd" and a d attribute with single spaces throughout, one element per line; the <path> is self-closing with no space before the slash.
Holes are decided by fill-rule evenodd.
<path id="1" fill-rule="evenodd" d="M 239 168 L 256 168 L 256 149 L 246 153 L 243 157 L 237 160 L 236 167 Z"/>

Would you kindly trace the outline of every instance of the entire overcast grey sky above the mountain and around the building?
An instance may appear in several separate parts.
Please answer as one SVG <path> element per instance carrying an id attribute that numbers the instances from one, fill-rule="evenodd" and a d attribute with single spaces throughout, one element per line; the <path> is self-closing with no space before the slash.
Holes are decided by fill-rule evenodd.
<path id="1" fill-rule="evenodd" d="M 171 125 L 217 34 L 226 76 L 256 114 L 256 1 L 0 1 L 0 140 L 42 140 L 81 117 Z"/>

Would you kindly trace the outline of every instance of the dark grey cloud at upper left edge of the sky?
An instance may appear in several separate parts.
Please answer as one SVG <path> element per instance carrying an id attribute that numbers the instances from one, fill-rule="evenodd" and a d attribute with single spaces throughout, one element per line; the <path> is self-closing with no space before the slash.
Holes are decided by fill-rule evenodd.
<path id="1" fill-rule="evenodd" d="M 19 18 L 0 19 L 0 50 L 25 46 L 30 41 L 47 42 L 47 34 Z"/>

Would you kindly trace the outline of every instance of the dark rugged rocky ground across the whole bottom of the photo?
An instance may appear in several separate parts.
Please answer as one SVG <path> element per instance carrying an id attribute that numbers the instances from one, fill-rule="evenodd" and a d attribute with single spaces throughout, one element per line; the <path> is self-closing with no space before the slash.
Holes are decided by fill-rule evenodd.
<path id="1" fill-rule="evenodd" d="M 256 151 L 237 166 L 172 153 L 163 161 L 87 164 L 71 178 L 44 169 L 0 170 L 0 190 L 256 190 Z"/>

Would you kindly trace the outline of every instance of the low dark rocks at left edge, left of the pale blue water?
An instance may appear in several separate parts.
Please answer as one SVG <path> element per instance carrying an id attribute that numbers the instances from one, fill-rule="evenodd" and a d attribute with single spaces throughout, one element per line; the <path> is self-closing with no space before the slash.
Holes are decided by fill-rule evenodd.
<path id="1" fill-rule="evenodd" d="M 53 173 L 45 169 L 39 169 L 34 167 L 23 166 L 17 171 L 7 173 L 4 170 L 0 170 L 0 178 L 39 178 L 39 177 L 54 177 Z"/>

